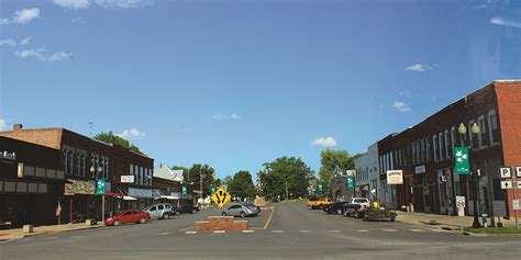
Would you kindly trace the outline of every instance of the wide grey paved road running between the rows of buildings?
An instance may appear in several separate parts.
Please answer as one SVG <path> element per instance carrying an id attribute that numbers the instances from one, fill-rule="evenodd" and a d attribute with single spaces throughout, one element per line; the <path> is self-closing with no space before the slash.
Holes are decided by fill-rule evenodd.
<path id="1" fill-rule="evenodd" d="M 0 259 L 520 259 L 519 237 L 467 237 L 402 223 L 365 223 L 280 203 L 248 218 L 250 233 L 195 233 L 219 211 L 146 225 L 0 244 Z M 268 223 L 268 219 L 270 222 Z M 264 227 L 266 226 L 266 229 Z"/>

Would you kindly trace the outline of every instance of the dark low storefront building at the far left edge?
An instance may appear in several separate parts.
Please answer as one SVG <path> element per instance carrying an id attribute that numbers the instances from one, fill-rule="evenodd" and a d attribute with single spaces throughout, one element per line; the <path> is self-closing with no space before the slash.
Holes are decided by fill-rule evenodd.
<path id="1" fill-rule="evenodd" d="M 65 182 L 59 160 L 57 149 L 0 137 L 2 226 L 57 223 L 55 213 L 64 195 Z"/>

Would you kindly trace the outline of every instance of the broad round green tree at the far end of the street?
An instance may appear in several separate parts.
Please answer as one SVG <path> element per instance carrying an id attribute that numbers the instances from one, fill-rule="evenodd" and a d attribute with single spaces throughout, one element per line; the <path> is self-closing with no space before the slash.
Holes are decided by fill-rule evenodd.
<path id="1" fill-rule="evenodd" d="M 264 196 L 276 200 L 286 197 L 286 188 L 293 196 L 308 193 L 308 180 L 313 177 L 313 171 L 300 158 L 281 157 L 273 162 L 264 163 L 260 177 L 260 190 Z"/>

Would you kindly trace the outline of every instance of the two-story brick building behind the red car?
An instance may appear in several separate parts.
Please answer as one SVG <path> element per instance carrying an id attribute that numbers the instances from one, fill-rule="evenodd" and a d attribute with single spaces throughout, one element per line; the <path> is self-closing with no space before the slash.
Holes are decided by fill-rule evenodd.
<path id="1" fill-rule="evenodd" d="M 152 176 L 154 160 L 114 144 L 106 144 L 65 128 L 13 131 L 0 136 L 33 143 L 60 151 L 59 168 L 65 172 L 63 222 L 101 218 L 101 199 L 95 195 L 96 179 L 104 178 L 106 212 L 143 208 L 153 203 Z M 133 183 L 121 182 L 122 176 L 133 176 Z"/>

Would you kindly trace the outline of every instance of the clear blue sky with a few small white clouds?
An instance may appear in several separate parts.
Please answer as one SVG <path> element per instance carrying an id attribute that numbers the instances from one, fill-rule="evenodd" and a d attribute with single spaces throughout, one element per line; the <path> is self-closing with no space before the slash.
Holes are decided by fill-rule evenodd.
<path id="1" fill-rule="evenodd" d="M 156 163 L 252 173 L 364 151 L 495 79 L 521 78 L 509 1 L 0 3 L 0 127 L 113 131 Z M 125 132 L 126 131 L 126 132 Z"/>

